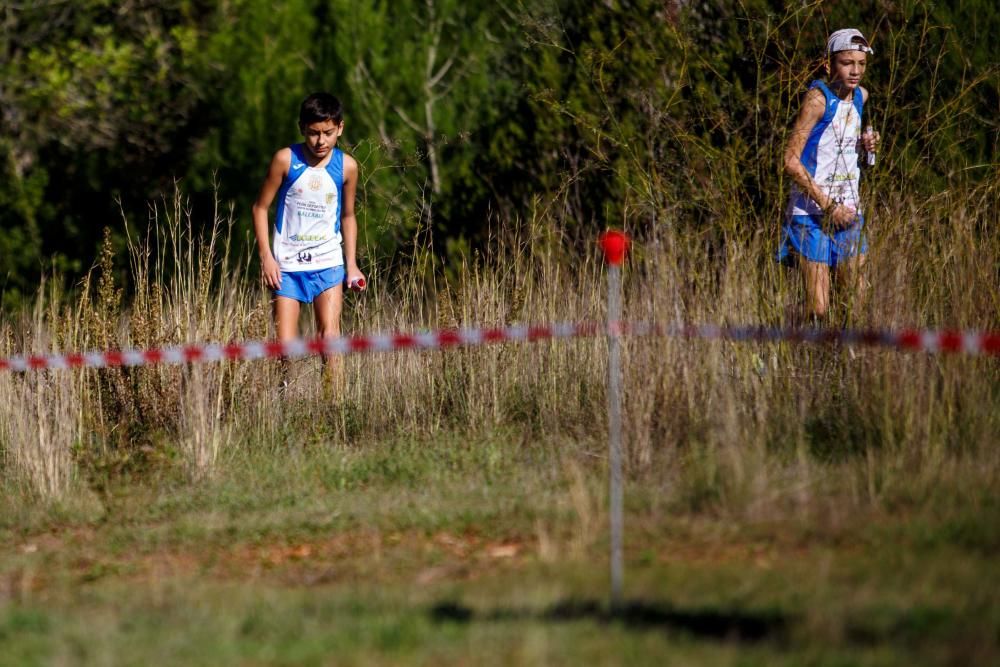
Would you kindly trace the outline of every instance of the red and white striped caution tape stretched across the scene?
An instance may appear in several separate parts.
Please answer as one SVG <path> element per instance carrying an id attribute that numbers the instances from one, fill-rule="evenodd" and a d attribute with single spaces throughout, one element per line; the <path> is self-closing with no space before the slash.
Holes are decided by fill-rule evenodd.
<path id="1" fill-rule="evenodd" d="M 222 360 L 294 358 L 310 355 L 347 355 L 358 352 L 436 350 L 502 342 L 535 342 L 555 338 L 591 337 L 603 333 L 624 336 L 670 336 L 736 342 L 758 341 L 866 345 L 929 353 L 961 352 L 1000 356 L 1000 331 L 851 329 L 796 329 L 715 325 L 663 325 L 592 322 L 519 325 L 496 328 L 446 329 L 426 333 L 394 333 L 331 339 L 251 341 L 245 343 L 192 343 L 147 350 L 111 350 L 84 353 L 29 355 L 0 358 L 0 371 L 24 372 L 49 368 L 105 368 L 153 366 Z"/>

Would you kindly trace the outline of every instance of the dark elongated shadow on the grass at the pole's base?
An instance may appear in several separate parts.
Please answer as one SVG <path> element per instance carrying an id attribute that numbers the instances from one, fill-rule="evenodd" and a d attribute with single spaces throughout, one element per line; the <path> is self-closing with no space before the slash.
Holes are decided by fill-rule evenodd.
<path id="1" fill-rule="evenodd" d="M 594 600 L 565 600 L 541 610 L 498 608 L 475 610 L 457 602 L 441 602 L 430 610 L 438 622 L 473 623 L 533 620 L 561 623 L 592 620 L 631 630 L 662 629 L 697 637 L 737 642 L 784 641 L 790 618 L 780 612 L 745 613 L 721 609 L 677 609 L 664 603 L 626 601 L 618 609 Z"/>

